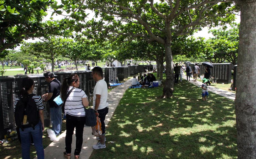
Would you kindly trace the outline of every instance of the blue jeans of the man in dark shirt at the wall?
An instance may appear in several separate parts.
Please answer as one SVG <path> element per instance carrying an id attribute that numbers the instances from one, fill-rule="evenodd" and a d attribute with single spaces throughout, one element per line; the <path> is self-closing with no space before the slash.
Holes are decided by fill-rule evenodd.
<path id="1" fill-rule="evenodd" d="M 62 126 L 62 110 L 61 107 L 50 107 L 51 124 L 55 135 L 59 135 Z"/>

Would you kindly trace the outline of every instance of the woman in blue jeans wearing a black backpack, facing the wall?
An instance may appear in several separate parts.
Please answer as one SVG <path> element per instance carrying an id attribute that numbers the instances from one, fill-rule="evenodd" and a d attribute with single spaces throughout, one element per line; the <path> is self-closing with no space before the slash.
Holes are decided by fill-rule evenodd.
<path id="1" fill-rule="evenodd" d="M 33 137 L 37 158 L 44 159 L 42 131 L 44 131 L 44 106 L 41 96 L 32 94 L 34 81 L 26 77 L 22 81 L 21 97 L 14 100 L 15 122 L 19 128 L 22 158 L 30 159 L 30 142 Z"/>

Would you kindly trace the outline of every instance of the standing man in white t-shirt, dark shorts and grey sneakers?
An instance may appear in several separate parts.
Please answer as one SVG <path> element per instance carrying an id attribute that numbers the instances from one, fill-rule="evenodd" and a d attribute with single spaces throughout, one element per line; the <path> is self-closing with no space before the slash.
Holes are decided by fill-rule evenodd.
<path id="1" fill-rule="evenodd" d="M 93 90 L 93 107 L 95 115 L 100 118 L 101 127 L 102 127 L 102 136 L 96 137 L 97 140 L 100 140 L 96 145 L 93 145 L 93 149 L 102 149 L 105 148 L 105 116 L 108 113 L 108 103 L 107 103 L 107 83 L 102 79 L 102 68 L 94 67 L 92 69 L 93 80 L 97 83 Z"/>

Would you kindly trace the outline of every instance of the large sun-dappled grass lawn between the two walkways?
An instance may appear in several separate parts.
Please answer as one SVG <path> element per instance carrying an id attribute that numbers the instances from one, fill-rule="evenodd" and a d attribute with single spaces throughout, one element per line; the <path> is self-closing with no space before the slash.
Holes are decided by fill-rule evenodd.
<path id="1" fill-rule="evenodd" d="M 234 102 L 186 80 L 174 97 L 159 99 L 163 87 L 128 89 L 107 127 L 106 148 L 90 159 L 237 158 Z M 111 142 L 112 141 L 112 142 Z"/>

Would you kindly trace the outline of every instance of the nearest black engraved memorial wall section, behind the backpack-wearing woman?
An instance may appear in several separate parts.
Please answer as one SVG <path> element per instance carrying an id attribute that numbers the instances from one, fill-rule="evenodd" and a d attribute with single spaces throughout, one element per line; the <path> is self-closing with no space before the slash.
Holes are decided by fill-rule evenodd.
<path id="1" fill-rule="evenodd" d="M 22 80 L 27 76 L 2 76 L 0 77 L 0 139 L 4 138 L 7 130 L 15 130 L 14 119 L 14 100 L 20 97 L 19 90 L 22 87 Z M 48 83 L 41 75 L 28 75 L 34 80 L 34 91 L 36 95 L 42 95 L 48 92 Z M 48 103 L 43 102 L 44 106 L 44 124 L 50 125 L 50 107 Z"/>

